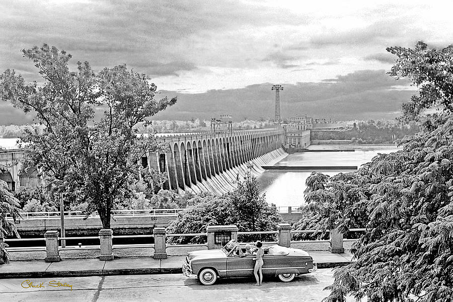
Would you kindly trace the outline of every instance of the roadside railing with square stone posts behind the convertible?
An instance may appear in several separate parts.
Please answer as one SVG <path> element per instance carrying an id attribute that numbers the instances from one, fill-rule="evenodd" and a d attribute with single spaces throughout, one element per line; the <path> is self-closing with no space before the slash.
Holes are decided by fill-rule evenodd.
<path id="1" fill-rule="evenodd" d="M 85 237 L 58 237 L 58 231 L 47 231 L 44 238 L 29 238 L 29 239 L 4 239 L 0 237 L 0 243 L 2 242 L 18 242 L 18 241 L 45 241 L 45 247 L 29 247 L 29 248 L 7 248 L 9 252 L 46 252 L 46 262 L 58 262 L 60 261 L 60 251 L 69 250 L 99 250 L 100 260 L 113 260 L 113 251 L 117 249 L 132 249 L 132 248 L 153 248 L 155 250 L 153 257 L 155 259 L 167 258 L 168 248 L 186 248 L 186 247 L 207 247 L 207 249 L 216 249 L 224 244 L 224 239 L 236 239 L 238 241 L 238 235 L 276 235 L 276 241 L 264 241 L 263 244 L 278 244 L 280 246 L 290 247 L 291 244 L 299 243 L 329 243 L 329 251 L 331 253 L 343 253 L 343 241 L 357 241 L 357 239 L 343 239 L 343 234 L 336 230 L 327 230 L 325 233 L 329 233 L 329 240 L 292 240 L 292 234 L 300 233 L 320 233 L 319 230 L 291 230 L 291 226 L 288 223 L 280 223 L 277 225 L 277 231 L 261 231 L 261 232 L 238 232 L 236 225 L 212 225 L 207 226 L 206 233 L 184 233 L 184 234 L 166 234 L 165 228 L 155 228 L 153 235 L 134 235 L 134 236 L 113 236 L 111 229 L 102 229 L 99 231 L 99 236 L 85 236 Z M 365 229 L 350 229 L 351 232 L 363 232 Z M 194 237 L 202 236 L 206 237 L 206 243 L 197 244 L 169 244 L 167 243 L 167 237 Z M 219 236 L 222 238 L 218 241 Z M 149 244 L 121 244 L 113 245 L 113 238 L 154 238 L 154 243 Z M 90 246 L 67 246 L 61 247 L 61 241 L 65 240 L 99 240 L 99 245 Z M 240 244 L 254 244 L 253 242 L 240 242 Z"/>

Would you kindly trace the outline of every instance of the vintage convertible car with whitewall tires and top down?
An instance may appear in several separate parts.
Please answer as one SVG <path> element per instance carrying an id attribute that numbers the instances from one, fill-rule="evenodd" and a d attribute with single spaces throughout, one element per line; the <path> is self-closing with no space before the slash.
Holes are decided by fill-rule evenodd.
<path id="1" fill-rule="evenodd" d="M 255 255 L 247 254 L 233 239 L 219 250 L 188 253 L 183 274 L 198 278 L 204 285 L 212 285 L 218 278 L 252 277 L 255 266 L 253 258 Z M 278 276 L 283 282 L 317 269 L 313 258 L 306 251 L 279 245 L 264 248 L 263 261 L 263 275 Z"/>

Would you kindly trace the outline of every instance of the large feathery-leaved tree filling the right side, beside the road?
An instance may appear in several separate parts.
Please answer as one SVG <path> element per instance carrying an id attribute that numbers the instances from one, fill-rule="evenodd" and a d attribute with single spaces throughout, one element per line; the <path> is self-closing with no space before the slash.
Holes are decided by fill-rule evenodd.
<path id="1" fill-rule="evenodd" d="M 428 50 L 419 42 L 388 50 L 398 56 L 392 74 L 420 89 L 403 105 L 403 118 L 419 120 L 421 132 L 357 172 L 307 180 L 308 208 L 324 228 L 344 231 L 367 218 L 351 250 L 357 261 L 335 269 L 326 300 L 353 294 L 371 302 L 446 302 L 453 296 L 452 48 Z M 433 106 L 438 113 L 423 114 Z"/>

